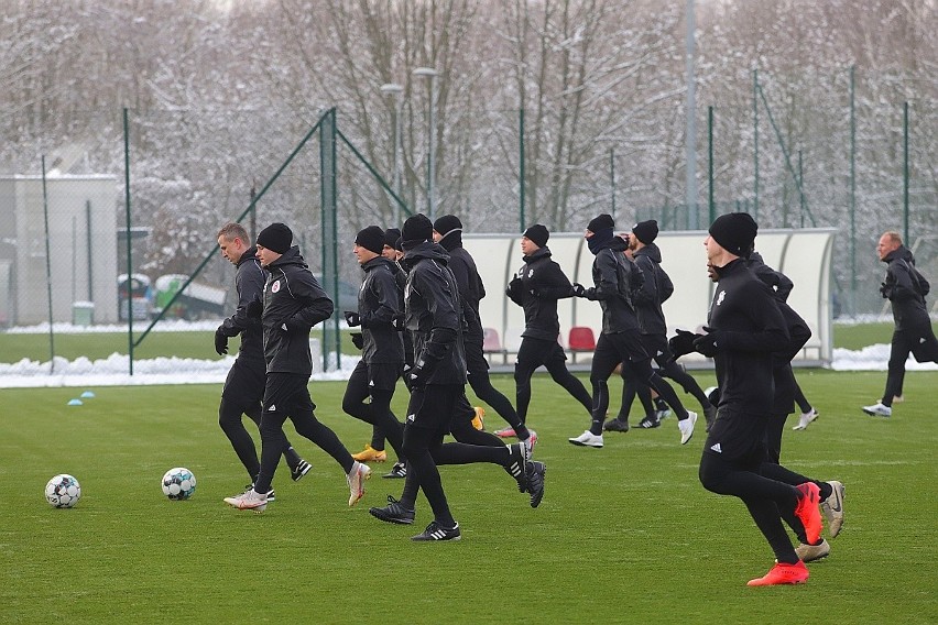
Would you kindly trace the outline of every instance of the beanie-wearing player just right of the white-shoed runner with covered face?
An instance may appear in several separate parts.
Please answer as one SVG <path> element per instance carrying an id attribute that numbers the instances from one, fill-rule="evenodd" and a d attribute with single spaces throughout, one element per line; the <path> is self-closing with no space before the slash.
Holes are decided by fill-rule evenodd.
<path id="1" fill-rule="evenodd" d="M 632 234 L 628 239 L 629 252 L 635 264 L 642 270 L 643 277 L 642 287 L 633 292 L 635 315 L 639 317 L 641 328 L 639 338 L 642 347 L 658 364 L 658 375 L 670 377 L 680 384 L 686 393 L 690 393 L 700 402 L 709 429 L 717 416 L 717 408 L 710 404 L 697 381 L 675 362 L 667 347 L 667 322 L 662 310 L 662 304 L 674 293 L 674 284 L 661 266 L 662 251 L 655 245 L 657 235 L 658 222 L 650 219 L 633 226 Z M 642 419 L 641 426 L 646 428 L 658 426 L 657 418 L 654 414 L 648 415 L 647 410 L 647 406 L 652 404 L 648 385 L 640 384 L 634 376 L 626 376 L 628 371 L 628 368 L 622 368 L 622 376 L 625 379 L 622 388 L 622 407 L 619 410 L 619 416 L 610 419 L 603 426 L 607 431 L 629 430 L 629 412 L 636 393 L 642 398 L 642 404 L 646 406 L 646 416 Z"/>

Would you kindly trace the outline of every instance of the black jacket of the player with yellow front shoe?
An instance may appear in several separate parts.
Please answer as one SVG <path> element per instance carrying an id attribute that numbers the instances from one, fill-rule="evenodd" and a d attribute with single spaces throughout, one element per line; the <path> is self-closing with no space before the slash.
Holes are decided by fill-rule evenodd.
<path id="1" fill-rule="evenodd" d="M 404 343 L 394 329 L 394 317 L 404 311 L 394 272 L 397 263 L 383 256 L 361 265 L 364 281 L 358 289 L 358 314 L 361 317 L 361 358 L 368 364 L 404 362 Z"/>

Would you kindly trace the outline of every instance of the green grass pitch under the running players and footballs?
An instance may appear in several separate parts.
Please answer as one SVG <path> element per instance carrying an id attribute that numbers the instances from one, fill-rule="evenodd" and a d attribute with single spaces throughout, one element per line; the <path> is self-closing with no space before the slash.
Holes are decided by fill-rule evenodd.
<path id="1" fill-rule="evenodd" d="M 281 467 L 263 514 L 227 507 L 248 480 L 217 425 L 220 385 L 100 387 L 79 407 L 66 403 L 80 390 L 4 390 L 0 621 L 936 623 L 938 374 L 909 373 L 894 416 L 868 417 L 859 406 L 884 376 L 798 372 L 821 416 L 786 430 L 783 461 L 841 480 L 846 524 L 807 584 L 763 589 L 745 582 L 772 566 L 767 545 L 738 500 L 697 480 L 702 428 L 686 447 L 669 418 L 576 448 L 566 439 L 587 415 L 544 375 L 528 418 L 547 463 L 543 504 L 532 509 L 493 465 L 444 468 L 463 536 L 436 545 L 408 540 L 430 520 L 423 498 L 411 527 L 368 514 L 400 495 L 380 478 L 390 463 L 349 508 L 341 470 L 290 428 L 310 473 L 293 483 Z M 513 398 L 510 376 L 494 381 Z M 310 384 L 319 418 L 357 451 L 370 430 L 340 413 L 343 388 Z M 401 415 L 403 392 L 394 406 Z M 501 425 L 489 410 L 488 429 Z M 189 501 L 161 492 L 176 465 L 197 476 Z M 81 483 L 73 509 L 43 497 L 59 472 Z"/>

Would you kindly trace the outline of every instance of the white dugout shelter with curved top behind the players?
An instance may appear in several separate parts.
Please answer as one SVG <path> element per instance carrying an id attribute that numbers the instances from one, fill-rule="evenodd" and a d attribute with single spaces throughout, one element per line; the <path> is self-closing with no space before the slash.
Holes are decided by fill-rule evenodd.
<path id="1" fill-rule="evenodd" d="M 808 322 L 812 337 L 798 358 L 803 364 L 827 365 L 832 358 L 830 311 L 830 264 L 832 229 L 763 230 L 755 240 L 765 263 L 795 283 L 788 304 Z M 669 336 L 678 328 L 695 330 L 707 322 L 712 283 L 707 277 L 704 231 L 662 232 L 655 243 L 662 250 L 662 266 L 674 282 L 674 295 L 664 305 Z M 521 344 L 524 314 L 504 295 L 512 275 L 522 266 L 521 237 L 506 234 L 463 234 L 466 249 L 476 259 L 486 284 L 487 297 L 480 312 L 482 325 L 499 332 L 510 351 Z M 581 233 L 552 233 L 547 242 L 554 260 L 570 278 L 592 286 L 593 255 Z M 589 326 L 599 336 L 602 312 L 599 303 L 569 298 L 558 303 L 560 342 L 566 347 L 572 326 Z M 586 354 L 578 362 L 587 360 Z M 495 359 L 501 362 L 501 359 Z M 514 362 L 513 354 L 509 363 Z M 681 362 L 705 364 L 692 354 Z"/>

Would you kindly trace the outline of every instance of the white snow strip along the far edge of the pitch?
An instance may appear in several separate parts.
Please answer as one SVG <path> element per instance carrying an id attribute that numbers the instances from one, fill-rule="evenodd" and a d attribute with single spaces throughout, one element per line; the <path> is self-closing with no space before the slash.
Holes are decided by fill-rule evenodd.
<path id="1" fill-rule="evenodd" d="M 141 329 L 146 326 L 141 324 Z M 214 331 L 218 321 L 171 321 L 161 322 L 153 331 Z M 48 333 L 48 325 L 30 328 L 11 328 L 8 332 Z M 72 326 L 55 324 L 53 331 L 67 332 L 126 332 L 127 326 Z M 313 380 L 348 380 L 360 359 L 342 355 L 338 371 L 314 373 Z M 835 371 L 886 371 L 890 346 L 875 344 L 859 351 L 835 349 L 831 369 Z M 129 373 L 129 358 L 111 354 L 90 361 L 77 358 L 74 361 L 56 358 L 52 363 L 23 359 L 12 364 L 0 363 L 0 388 L 52 387 L 52 386 L 135 386 L 150 384 L 222 384 L 228 370 L 234 362 L 233 355 L 215 360 L 188 358 L 155 358 L 135 360 L 133 375 Z M 938 371 L 938 364 L 917 363 L 909 359 L 907 371 Z"/>

